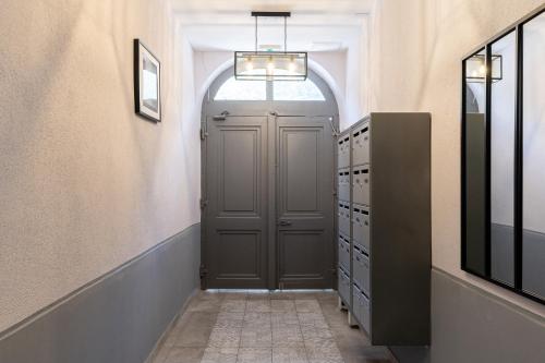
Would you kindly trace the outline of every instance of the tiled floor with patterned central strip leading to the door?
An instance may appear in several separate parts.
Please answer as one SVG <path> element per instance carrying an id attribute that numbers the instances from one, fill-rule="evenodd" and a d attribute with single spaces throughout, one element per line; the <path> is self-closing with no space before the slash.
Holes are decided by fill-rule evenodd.
<path id="1" fill-rule="evenodd" d="M 386 363 L 337 308 L 335 292 L 206 292 L 190 302 L 153 363 Z"/>

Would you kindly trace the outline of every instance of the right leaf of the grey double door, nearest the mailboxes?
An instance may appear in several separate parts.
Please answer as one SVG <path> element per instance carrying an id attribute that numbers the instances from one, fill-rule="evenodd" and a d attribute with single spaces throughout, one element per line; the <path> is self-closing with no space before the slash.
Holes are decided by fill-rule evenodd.
<path id="1" fill-rule="evenodd" d="M 327 118 L 277 118 L 281 288 L 332 287 L 334 147 Z"/>

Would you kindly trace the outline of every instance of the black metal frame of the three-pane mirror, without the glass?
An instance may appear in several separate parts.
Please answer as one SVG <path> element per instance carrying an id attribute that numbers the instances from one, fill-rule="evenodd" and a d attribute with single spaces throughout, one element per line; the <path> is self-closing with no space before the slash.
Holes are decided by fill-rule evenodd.
<path id="1" fill-rule="evenodd" d="M 471 275 L 477 276 L 488 282 L 492 282 L 494 285 L 500 286 L 509 291 L 512 291 L 519 295 L 522 295 L 524 298 L 528 298 L 530 300 L 533 300 L 537 303 L 545 304 L 545 300 L 542 297 L 535 295 L 533 293 L 529 293 L 525 291 L 522 287 L 522 269 L 523 269 L 523 261 L 522 261 L 522 249 L 523 249 L 523 241 L 522 241 L 522 207 L 523 207 L 523 201 L 522 201 L 522 184 L 523 184 L 523 177 L 522 177 L 522 170 L 523 170 L 523 117 L 522 117 L 522 99 L 523 99 L 523 94 L 522 94 L 522 81 L 523 81 L 523 26 L 532 21 L 533 19 L 542 15 L 545 13 L 545 5 L 541 5 L 534 11 L 532 11 L 530 14 L 524 16 L 523 19 L 517 21 L 516 23 L 509 25 L 506 27 L 502 32 L 499 32 L 497 35 L 494 37 L 489 38 L 485 43 L 479 45 L 475 47 L 471 52 L 465 55 L 462 60 L 461 60 L 461 75 L 462 75 L 462 83 L 461 83 L 461 246 L 460 246 L 460 253 L 461 253 L 461 269 L 464 270 L 465 273 L 469 273 Z M 492 82 L 494 81 L 492 78 L 491 74 L 491 65 L 492 65 L 492 45 L 505 37 L 506 35 L 514 33 L 516 38 L 517 38 L 517 44 L 516 44 L 516 66 L 517 66 L 517 76 L 516 76 L 516 140 L 514 140 L 514 148 L 516 148 L 516 156 L 514 156 L 514 253 L 513 253 L 513 263 L 514 263 L 514 285 L 510 286 L 508 283 L 504 283 L 497 279 L 492 278 L 491 274 L 491 231 L 489 231 L 489 225 L 491 225 L 491 156 L 489 156 L 489 145 L 491 145 L 491 85 Z M 465 105 L 465 98 L 467 98 L 467 84 L 468 84 L 468 74 L 467 74 L 467 60 L 474 57 L 479 52 L 484 51 L 485 52 L 485 59 L 486 59 L 486 65 L 487 65 L 487 73 L 486 73 L 486 78 L 485 78 L 485 128 L 486 128 L 486 178 L 485 178 L 485 193 L 486 193 L 486 220 L 485 220 L 485 226 L 486 226 L 486 237 L 484 241 L 484 246 L 485 246 L 485 268 L 484 273 L 476 271 L 475 269 L 471 268 L 467 264 L 467 254 L 468 254 L 468 241 L 467 241 L 467 225 L 468 225 L 468 216 L 467 216 L 467 204 L 468 204 L 468 185 L 467 185 L 467 164 L 468 164 L 468 155 L 465 150 L 467 146 L 467 105 Z"/>

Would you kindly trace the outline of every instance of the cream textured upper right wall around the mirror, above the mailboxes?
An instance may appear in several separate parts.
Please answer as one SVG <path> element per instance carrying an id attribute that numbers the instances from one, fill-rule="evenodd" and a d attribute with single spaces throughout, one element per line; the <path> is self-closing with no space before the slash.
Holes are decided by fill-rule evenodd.
<path id="1" fill-rule="evenodd" d="M 545 316 L 545 307 L 460 269 L 461 59 L 543 0 L 377 0 L 373 111 L 432 112 L 433 265 Z"/>

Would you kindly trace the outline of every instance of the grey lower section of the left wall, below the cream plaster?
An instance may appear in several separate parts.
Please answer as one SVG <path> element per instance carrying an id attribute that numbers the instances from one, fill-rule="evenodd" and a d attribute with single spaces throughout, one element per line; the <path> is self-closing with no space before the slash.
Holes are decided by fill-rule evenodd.
<path id="1" fill-rule="evenodd" d="M 201 226 L 0 335 L 0 362 L 142 363 L 199 286 Z"/>

